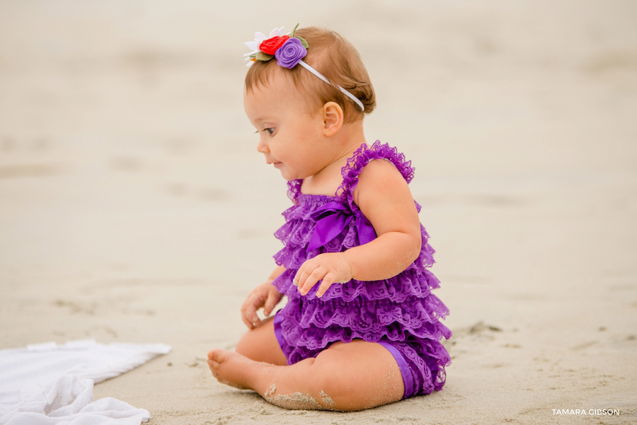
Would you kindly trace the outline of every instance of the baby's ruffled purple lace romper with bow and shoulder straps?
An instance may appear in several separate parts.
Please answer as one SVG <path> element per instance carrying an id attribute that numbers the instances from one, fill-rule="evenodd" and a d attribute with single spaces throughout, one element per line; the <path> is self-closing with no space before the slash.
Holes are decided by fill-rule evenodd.
<path id="1" fill-rule="evenodd" d="M 422 225 L 420 255 L 394 277 L 333 284 L 321 298 L 316 296 L 319 284 L 305 296 L 292 284 L 305 260 L 376 238 L 371 223 L 354 204 L 352 192 L 365 165 L 380 158 L 394 163 L 411 182 L 411 161 L 380 141 L 371 147 L 362 144 L 348 159 L 338 196 L 302 194 L 303 180 L 288 182 L 294 205 L 283 212 L 286 223 L 275 236 L 285 247 L 274 255 L 286 270 L 272 282 L 288 302 L 275 315 L 275 334 L 288 364 L 314 357 L 336 341 L 360 338 L 378 342 L 396 359 L 405 383 L 403 398 L 407 398 L 440 390 L 444 366 L 451 362 L 440 343 L 442 337 L 451 337 L 451 331 L 439 321 L 449 310 L 431 292 L 440 281 L 427 270 L 434 263 L 435 251 L 427 243 L 429 235 Z M 420 212 L 418 202 L 415 205 Z"/>

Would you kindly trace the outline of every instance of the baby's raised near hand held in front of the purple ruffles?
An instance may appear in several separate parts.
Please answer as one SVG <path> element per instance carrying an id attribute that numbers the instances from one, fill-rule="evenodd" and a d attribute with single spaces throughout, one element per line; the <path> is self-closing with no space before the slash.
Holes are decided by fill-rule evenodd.
<path id="1" fill-rule="evenodd" d="M 323 279 L 316 296 L 322 296 L 334 283 L 343 284 L 352 279 L 352 267 L 343 252 L 326 252 L 304 262 L 294 276 L 294 285 L 305 295 Z"/>

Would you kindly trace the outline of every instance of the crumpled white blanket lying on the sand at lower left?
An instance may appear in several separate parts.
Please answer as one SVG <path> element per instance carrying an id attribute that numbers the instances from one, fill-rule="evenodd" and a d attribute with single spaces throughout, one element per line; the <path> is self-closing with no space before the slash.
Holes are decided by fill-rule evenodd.
<path id="1" fill-rule="evenodd" d="M 0 425 L 139 425 L 145 409 L 103 398 L 93 383 L 114 378 L 159 354 L 165 344 L 97 344 L 93 339 L 0 350 Z"/>

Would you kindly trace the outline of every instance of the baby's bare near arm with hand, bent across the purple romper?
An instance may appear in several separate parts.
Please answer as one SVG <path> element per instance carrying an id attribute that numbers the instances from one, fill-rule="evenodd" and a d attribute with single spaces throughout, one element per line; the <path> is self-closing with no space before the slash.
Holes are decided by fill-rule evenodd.
<path id="1" fill-rule="evenodd" d="M 422 244 L 418 210 L 406 180 L 392 163 L 370 161 L 353 194 L 378 237 L 345 252 L 328 252 L 304 262 L 294 277 L 302 294 L 321 279 L 319 296 L 335 282 L 388 279 L 418 258 Z"/>

